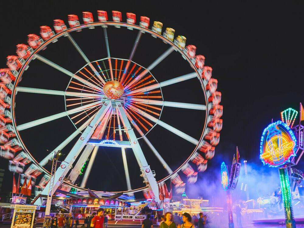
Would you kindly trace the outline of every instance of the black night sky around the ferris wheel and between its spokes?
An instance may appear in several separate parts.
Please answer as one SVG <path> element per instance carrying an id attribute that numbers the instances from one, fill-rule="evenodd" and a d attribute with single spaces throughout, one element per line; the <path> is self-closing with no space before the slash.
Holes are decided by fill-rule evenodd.
<path id="1" fill-rule="evenodd" d="M 78 15 L 82 23 L 83 11 L 93 13 L 97 21 L 97 10 L 136 14 L 162 22 L 163 29 L 172 27 L 175 36 L 184 35 L 186 44 L 197 47 L 196 54 L 206 57 L 205 65 L 213 69 L 212 77 L 218 79 L 218 91 L 222 93 L 223 130 L 215 157 L 209 168 L 199 173 L 199 179 L 212 179 L 214 170 L 220 170 L 222 160 L 230 163 L 238 146 L 242 159 L 261 165 L 259 145 L 263 129 L 271 119 L 279 120 L 280 112 L 286 108 L 299 111 L 303 102 L 303 3 L 288 1 L 270 4 L 243 1 L 238 4 L 215 1 L 5 1 L 0 14 L 1 68 L 6 67 L 6 57 L 15 54 L 18 43 L 26 43 L 29 33 L 39 34 L 39 27 L 50 26 L 54 19 L 63 19 L 68 14 Z M 88 3 L 89 2 L 89 3 Z M 149 27 L 149 28 L 150 28 Z M 137 30 L 136 30 L 137 31 Z M 109 28 L 111 57 L 128 58 L 137 32 L 126 28 Z M 100 27 L 71 33 L 90 60 L 107 57 L 103 31 Z M 169 46 L 159 39 L 144 34 L 136 50 L 134 61 L 148 66 Z M 85 61 L 66 37 L 50 44 L 40 55 L 50 59 L 71 72 L 85 65 Z M 189 64 L 176 52 L 170 54 L 151 73 L 158 81 L 165 81 L 191 73 Z M 23 74 L 20 86 L 64 91 L 69 77 L 60 71 L 33 60 Z M 188 80 L 163 89 L 165 101 L 204 104 L 202 89 L 197 79 Z M 16 96 L 17 125 L 64 111 L 64 98 L 51 95 L 19 93 Z M 197 110 L 165 107 L 161 120 L 199 139 L 205 114 Z M 299 122 L 297 118 L 296 123 Z M 65 117 L 21 132 L 21 137 L 37 161 L 47 155 L 74 131 L 71 121 Z M 156 126 L 147 135 L 156 149 L 172 169 L 179 167 L 194 149 L 194 145 Z M 64 148 L 67 154 L 75 141 Z M 166 171 L 150 149 L 140 142 L 156 179 L 166 176 Z M 132 151 L 127 150 L 131 185 L 142 187 L 139 167 Z M 303 160 L 303 159 L 302 159 Z M 0 164 L 7 169 L 8 161 L 1 158 Z M 303 162 L 302 162 L 303 164 Z M 297 168 L 303 169 L 299 164 Z M 194 166 L 193 166 L 194 167 Z M 50 167 L 47 167 L 48 169 Z M 185 175 L 181 177 L 186 181 Z M 6 179 L 7 178 L 7 179 Z M 5 181 L 11 183 L 12 174 L 6 171 Z M 95 190 L 119 191 L 126 189 L 121 152 L 119 149 L 100 148 L 87 187 Z M 5 185 L 2 191 L 9 190 Z M 191 185 L 188 185 L 191 195 Z M 202 193 L 203 194 L 203 193 Z"/>

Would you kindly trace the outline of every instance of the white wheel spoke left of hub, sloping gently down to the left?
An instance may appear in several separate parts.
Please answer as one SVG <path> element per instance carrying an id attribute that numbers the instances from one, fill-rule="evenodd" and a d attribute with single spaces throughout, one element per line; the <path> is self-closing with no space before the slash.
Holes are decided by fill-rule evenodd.
<path id="1" fill-rule="evenodd" d="M 102 104 L 102 101 L 97 101 L 97 102 L 94 102 L 94 103 L 91 103 L 91 104 L 88 104 L 88 105 L 84 105 L 84 106 L 81 106 L 81 107 L 78 107 L 78 108 L 75 108 L 75 109 L 71 109 L 71 110 L 68 110 L 68 111 L 65 111 L 65 112 L 57 113 L 57 114 L 52 115 L 52 116 L 47 116 L 47 117 L 44 117 L 44 118 L 41 118 L 41 119 L 37 119 L 37 120 L 31 121 L 29 123 L 24 123 L 24 124 L 21 124 L 21 125 L 17 126 L 17 130 L 18 131 L 25 130 L 27 128 L 34 127 L 34 126 L 37 126 L 37 125 L 40 125 L 40 124 L 43 124 L 43 123 L 47 123 L 47 122 L 50 122 L 52 120 L 59 119 L 59 118 L 62 118 L 64 116 L 68 116 L 70 114 L 80 112 L 82 110 L 89 109 L 92 106 L 97 106 L 97 105 L 100 105 L 100 104 Z"/>

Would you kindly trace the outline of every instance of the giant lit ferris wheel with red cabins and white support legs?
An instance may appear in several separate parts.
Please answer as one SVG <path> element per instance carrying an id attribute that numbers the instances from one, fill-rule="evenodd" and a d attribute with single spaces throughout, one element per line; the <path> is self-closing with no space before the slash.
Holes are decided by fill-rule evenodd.
<path id="1" fill-rule="evenodd" d="M 184 173 L 189 183 L 194 183 L 197 179 L 196 171 L 205 171 L 207 160 L 214 156 L 214 147 L 219 143 L 219 131 L 222 129 L 223 106 L 219 105 L 221 93 L 216 91 L 217 80 L 211 78 L 212 68 L 204 66 L 205 57 L 196 55 L 194 45 L 186 46 L 185 36 L 174 38 L 174 29 L 166 28 L 162 32 L 162 23 L 155 21 L 149 29 L 150 19 L 145 16 L 140 17 L 139 26 L 136 25 L 136 15 L 127 13 L 127 23 L 122 22 L 121 12 L 112 11 L 112 21 L 108 20 L 107 12 L 97 11 L 98 22 L 94 22 L 91 12 L 83 12 L 83 24 L 81 25 L 78 16 L 68 15 L 70 28 L 64 24 L 63 20 L 54 20 L 56 34 L 49 26 L 40 27 L 40 36 L 36 34 L 28 35 L 28 44 L 17 45 L 17 56 L 7 57 L 7 66 L 0 70 L 0 146 L 1 156 L 9 159 L 9 169 L 13 172 L 24 173 L 31 176 L 32 180 L 40 179 L 36 186 L 40 187 L 41 195 L 47 195 L 49 189 L 50 173 L 43 168 L 47 161 L 51 159 L 55 151 L 62 150 L 73 139 L 76 143 L 69 151 L 60 167 L 57 168 L 54 178 L 53 193 L 57 189 L 69 191 L 71 188 L 85 190 L 94 159 L 97 155 L 98 147 L 119 147 L 121 148 L 123 166 L 128 189 L 122 189 L 125 194 L 143 191 L 149 198 L 158 199 L 158 182 L 171 179 L 176 191 L 184 191 L 185 183 L 179 174 Z M 107 34 L 109 27 L 124 27 L 137 33 L 132 51 L 128 59 L 112 57 L 110 55 L 110 45 Z M 82 51 L 81 47 L 72 37 L 73 32 L 80 32 L 82 29 L 102 28 L 106 44 L 106 50 L 102 52 L 101 59 L 90 60 Z M 142 66 L 133 61 L 133 56 L 142 36 L 152 35 L 163 41 L 168 46 L 154 62 L 148 66 Z M 71 72 L 57 63 L 43 57 L 42 50 L 46 49 L 50 43 L 60 42 L 61 39 L 68 39 L 86 64 L 77 72 Z M 178 52 L 182 61 L 187 61 L 190 65 L 190 73 L 177 75 L 169 80 L 162 81 L 160 76 L 153 75 L 151 70 L 172 52 Z M 19 82 L 32 61 L 40 61 L 53 67 L 58 73 L 63 73 L 69 77 L 69 83 L 65 91 L 21 87 Z M 62 76 L 64 77 L 64 76 Z M 165 100 L 162 88 L 169 87 L 176 83 L 185 83 L 189 79 L 197 79 L 201 93 L 204 95 L 203 104 L 171 102 Z M 24 78 L 23 80 L 26 80 Z M 43 118 L 27 123 L 18 124 L 16 122 L 15 102 L 16 94 L 32 93 L 38 95 L 61 96 L 64 99 L 65 111 L 54 115 L 47 115 Z M 178 109 L 200 110 L 205 113 L 204 126 L 201 129 L 201 136 L 196 139 L 181 130 L 178 126 L 171 126 L 161 120 L 161 114 L 167 107 Z M 176 112 L 177 112 L 176 111 Z M 35 128 L 47 122 L 54 121 L 62 117 L 68 117 L 75 127 L 75 131 L 60 143 L 42 161 L 38 162 L 35 155 L 31 154 L 25 143 L 22 141 L 20 132 L 25 129 Z M 155 131 L 152 129 L 159 125 L 168 130 L 169 134 L 175 134 L 182 140 L 192 143 L 195 147 L 189 151 L 188 158 L 175 170 L 172 170 L 161 154 L 148 140 L 153 137 Z M 177 123 L 178 125 L 178 123 Z M 195 127 L 195 126 L 193 126 Z M 161 180 L 157 177 L 146 160 L 139 141 L 147 143 L 155 157 L 166 169 L 168 175 Z M 136 161 L 140 167 L 141 177 L 145 186 L 133 189 L 130 184 L 128 164 L 126 160 L 126 148 L 131 148 Z M 74 185 L 85 162 L 90 157 L 88 166 L 82 176 L 81 184 Z M 192 165 L 191 165 L 192 164 Z M 194 165 L 197 168 L 193 168 Z M 26 178 L 26 177 L 25 177 Z M 41 202 L 42 203 L 42 202 Z"/>

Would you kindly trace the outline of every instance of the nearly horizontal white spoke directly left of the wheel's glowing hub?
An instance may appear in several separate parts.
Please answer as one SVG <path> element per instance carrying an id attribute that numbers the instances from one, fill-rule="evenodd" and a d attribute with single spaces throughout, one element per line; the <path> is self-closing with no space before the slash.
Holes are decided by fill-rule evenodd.
<path id="1" fill-rule="evenodd" d="M 66 92 L 59 90 L 50 90 L 50 89 L 38 89 L 38 88 L 29 88 L 29 87 L 16 87 L 16 92 L 26 92 L 26 93 L 39 93 L 39 94 L 49 94 L 49 95 L 66 95 L 73 97 L 84 97 L 84 98 L 105 98 L 104 95 L 97 95 L 94 93 L 77 93 L 77 92 Z"/>

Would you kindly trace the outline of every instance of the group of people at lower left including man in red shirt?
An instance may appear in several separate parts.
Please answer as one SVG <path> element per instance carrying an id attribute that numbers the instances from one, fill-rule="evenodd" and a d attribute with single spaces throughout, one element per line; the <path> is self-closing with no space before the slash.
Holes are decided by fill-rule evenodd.
<path id="1" fill-rule="evenodd" d="M 75 218 L 70 214 L 56 214 L 52 216 L 52 228 L 77 228 L 79 226 L 79 219 Z M 108 217 L 105 216 L 103 209 L 98 209 L 97 213 L 92 213 L 91 216 L 85 218 L 84 224 L 81 228 L 107 228 Z"/>

